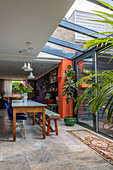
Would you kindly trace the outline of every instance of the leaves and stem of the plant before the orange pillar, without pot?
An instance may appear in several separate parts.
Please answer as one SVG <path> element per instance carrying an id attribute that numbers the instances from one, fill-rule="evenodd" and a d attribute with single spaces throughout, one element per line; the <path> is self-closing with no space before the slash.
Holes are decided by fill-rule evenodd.
<path id="1" fill-rule="evenodd" d="M 70 107 L 70 117 L 71 117 L 71 103 L 70 100 L 73 99 L 74 91 L 75 91 L 75 84 L 74 84 L 74 79 L 75 79 L 75 71 L 73 68 L 71 68 L 71 65 L 68 65 L 67 70 L 65 70 L 65 73 L 63 74 L 64 77 L 64 86 L 62 89 L 64 91 L 62 92 L 62 96 L 67 95 L 66 97 L 66 103 L 69 103 Z"/>

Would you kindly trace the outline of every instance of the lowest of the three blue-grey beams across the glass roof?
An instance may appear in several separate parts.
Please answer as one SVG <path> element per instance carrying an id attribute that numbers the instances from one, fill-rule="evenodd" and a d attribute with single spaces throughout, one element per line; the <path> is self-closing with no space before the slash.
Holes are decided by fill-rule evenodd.
<path id="1" fill-rule="evenodd" d="M 52 54 L 52 55 L 56 55 L 57 57 L 62 57 L 62 58 L 66 58 L 66 59 L 72 59 L 72 57 L 74 56 L 74 54 L 70 54 L 70 53 L 63 53 L 61 52 L 61 50 L 57 50 L 57 49 L 52 49 L 52 48 L 49 48 L 47 46 L 45 46 L 41 52 L 45 52 L 45 53 L 48 53 L 48 54 Z"/>

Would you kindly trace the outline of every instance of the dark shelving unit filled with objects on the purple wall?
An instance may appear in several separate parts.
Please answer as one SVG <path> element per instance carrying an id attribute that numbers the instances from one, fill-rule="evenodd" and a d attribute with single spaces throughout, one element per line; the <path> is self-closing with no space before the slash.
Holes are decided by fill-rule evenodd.
<path id="1" fill-rule="evenodd" d="M 37 80 L 36 90 L 39 90 L 37 101 L 46 104 L 55 104 L 58 96 L 58 69 L 54 69 Z M 48 93 L 48 94 L 47 94 Z"/>

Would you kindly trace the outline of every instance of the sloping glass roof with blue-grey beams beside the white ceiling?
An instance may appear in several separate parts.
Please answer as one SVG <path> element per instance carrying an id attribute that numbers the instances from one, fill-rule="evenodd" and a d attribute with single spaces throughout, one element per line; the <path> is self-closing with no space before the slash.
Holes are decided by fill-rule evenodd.
<path id="1" fill-rule="evenodd" d="M 91 1 L 94 3 L 96 2 L 96 0 Z M 75 2 L 77 3 L 77 1 Z M 78 3 L 79 2 L 80 1 L 78 0 Z M 86 2 L 88 3 L 88 1 Z M 94 38 L 104 38 L 106 36 L 102 34 L 95 34 L 105 31 L 104 23 L 91 21 L 99 20 L 99 16 L 91 13 L 91 11 L 87 12 L 85 10 L 75 9 L 76 8 L 74 7 L 70 17 L 67 18 L 67 16 L 65 16 L 65 18 L 61 21 L 52 36 L 49 38 L 48 42 L 45 44 L 42 52 L 73 60 L 83 54 L 87 55 L 86 53 L 89 52 L 89 50 L 85 50 L 82 47 L 83 43 L 81 44 L 81 42 L 92 40 Z M 93 50 L 96 51 L 98 49 L 94 47 Z"/>

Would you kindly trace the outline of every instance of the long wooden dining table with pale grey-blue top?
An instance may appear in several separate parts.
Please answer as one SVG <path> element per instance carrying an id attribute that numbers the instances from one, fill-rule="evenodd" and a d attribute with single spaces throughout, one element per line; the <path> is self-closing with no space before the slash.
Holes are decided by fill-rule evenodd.
<path id="1" fill-rule="evenodd" d="M 13 141 L 16 140 L 16 113 L 33 113 L 33 125 L 35 124 L 35 113 L 42 112 L 43 119 L 43 138 L 46 138 L 45 131 L 45 104 L 41 104 L 32 100 L 22 103 L 18 100 L 12 100 L 13 107 Z"/>

